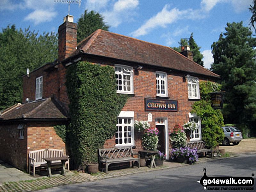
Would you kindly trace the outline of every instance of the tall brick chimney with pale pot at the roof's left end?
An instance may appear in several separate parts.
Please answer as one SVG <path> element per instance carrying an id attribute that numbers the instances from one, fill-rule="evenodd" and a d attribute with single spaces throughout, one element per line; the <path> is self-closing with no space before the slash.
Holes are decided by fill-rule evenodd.
<path id="1" fill-rule="evenodd" d="M 77 24 L 74 23 L 74 16 L 64 17 L 64 23 L 58 28 L 58 59 L 63 61 L 68 58 L 77 45 L 76 42 Z"/>

